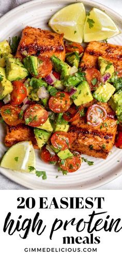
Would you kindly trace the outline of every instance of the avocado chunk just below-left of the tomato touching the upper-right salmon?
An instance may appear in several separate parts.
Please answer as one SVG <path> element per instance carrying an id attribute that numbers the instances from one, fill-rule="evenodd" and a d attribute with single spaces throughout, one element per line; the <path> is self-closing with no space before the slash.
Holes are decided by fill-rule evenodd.
<path id="1" fill-rule="evenodd" d="M 81 84 L 79 84 L 77 87 L 77 92 L 74 93 L 71 98 L 76 106 L 80 106 L 81 104 L 93 100 L 88 83 L 83 81 Z"/>

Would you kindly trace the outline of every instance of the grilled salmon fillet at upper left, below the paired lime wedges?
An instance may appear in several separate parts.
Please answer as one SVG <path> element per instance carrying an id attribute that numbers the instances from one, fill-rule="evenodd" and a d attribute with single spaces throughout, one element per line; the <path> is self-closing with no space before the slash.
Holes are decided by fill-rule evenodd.
<path id="1" fill-rule="evenodd" d="M 16 57 L 22 59 L 23 51 L 28 55 L 47 56 L 53 54 L 64 61 L 65 47 L 63 42 L 64 34 L 56 34 L 41 28 L 26 26 L 22 31 L 21 40 L 17 49 Z"/>

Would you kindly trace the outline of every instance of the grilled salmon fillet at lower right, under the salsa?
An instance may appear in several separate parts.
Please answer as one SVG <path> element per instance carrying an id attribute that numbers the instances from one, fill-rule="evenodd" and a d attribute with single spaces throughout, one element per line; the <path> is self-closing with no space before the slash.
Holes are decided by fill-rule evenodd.
<path id="1" fill-rule="evenodd" d="M 73 138 L 71 149 L 105 159 L 114 145 L 117 121 L 108 103 L 97 102 L 97 104 L 105 108 L 108 114 L 106 119 L 99 126 L 88 125 L 86 117 L 72 122 L 69 130 Z"/>

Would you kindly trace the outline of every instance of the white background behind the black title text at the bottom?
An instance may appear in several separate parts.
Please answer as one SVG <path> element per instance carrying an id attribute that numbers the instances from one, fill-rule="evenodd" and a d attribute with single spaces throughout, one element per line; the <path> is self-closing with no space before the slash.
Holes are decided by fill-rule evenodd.
<path id="1" fill-rule="evenodd" d="M 102 203 L 102 209 L 96 209 L 97 204 L 95 203 L 94 208 L 92 209 L 54 209 L 53 206 L 51 209 L 39 209 L 39 197 L 48 197 L 48 205 L 51 204 L 52 198 L 55 194 L 57 203 L 59 205 L 59 200 L 61 197 L 83 197 L 84 200 L 86 197 L 105 197 L 104 203 Z M 107 194 L 107 195 L 106 195 Z M 19 204 L 17 202 L 18 197 L 34 197 L 36 200 L 36 206 L 34 209 L 17 209 L 17 205 Z M 90 191 L 90 190 L 84 190 L 84 191 L 72 191 L 72 190 L 51 190 L 51 191 L 6 191 L 2 190 L 0 191 L 0 205 L 1 205 L 1 212 L 0 212 L 0 241 L 1 241 L 1 255 L 2 256 L 25 256 L 25 255 L 74 255 L 74 252 L 50 252 L 48 254 L 47 252 L 39 253 L 39 252 L 24 252 L 24 248 L 42 248 L 42 247 L 74 247 L 74 248 L 97 248 L 97 252 L 75 252 L 75 255 L 86 255 L 86 256 L 103 256 L 103 255 L 117 255 L 121 256 L 121 232 L 115 233 L 112 232 L 95 232 L 94 236 L 100 236 L 101 243 L 98 245 L 63 245 L 63 239 L 64 236 L 89 236 L 87 231 L 83 232 L 76 232 L 75 226 L 67 228 L 67 231 L 63 231 L 63 228 L 60 228 L 58 231 L 54 232 L 52 240 L 49 239 L 50 231 L 52 224 L 55 220 L 55 218 L 62 219 L 63 222 L 65 220 L 71 220 L 72 218 L 76 218 L 77 222 L 84 218 L 85 221 L 87 221 L 88 215 L 95 210 L 96 213 L 100 212 L 108 212 L 105 214 L 104 220 L 106 219 L 107 215 L 110 215 L 110 220 L 112 218 L 117 219 L 122 217 L 122 208 L 121 208 L 121 191 Z M 12 236 L 8 235 L 7 232 L 3 232 L 3 225 L 5 222 L 5 218 L 8 214 L 8 212 L 11 212 L 11 218 L 14 220 L 18 220 L 19 215 L 22 215 L 22 220 L 25 218 L 34 218 L 35 214 L 37 212 L 40 213 L 40 218 L 43 220 L 44 224 L 47 225 L 44 233 L 41 236 L 38 236 L 36 233 L 30 233 L 28 234 L 28 237 L 26 239 L 20 238 L 19 234 L 23 234 L 22 232 L 14 233 Z M 95 220 L 97 220 L 96 218 Z M 22 222 L 21 222 L 22 223 Z M 110 222 L 109 222 L 110 223 Z M 122 226 L 122 220 L 121 225 Z"/>

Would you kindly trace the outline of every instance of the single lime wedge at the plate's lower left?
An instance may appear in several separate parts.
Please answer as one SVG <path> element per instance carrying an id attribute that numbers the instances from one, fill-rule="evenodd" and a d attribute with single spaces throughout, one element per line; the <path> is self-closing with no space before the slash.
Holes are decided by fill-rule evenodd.
<path id="1" fill-rule="evenodd" d="M 35 173 L 36 157 L 32 142 L 23 141 L 10 147 L 1 161 L 1 167 L 20 172 L 29 172 L 28 167 L 34 167 L 31 173 Z"/>

